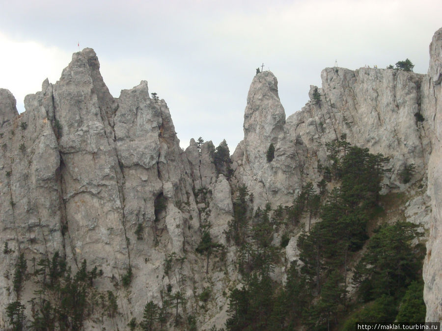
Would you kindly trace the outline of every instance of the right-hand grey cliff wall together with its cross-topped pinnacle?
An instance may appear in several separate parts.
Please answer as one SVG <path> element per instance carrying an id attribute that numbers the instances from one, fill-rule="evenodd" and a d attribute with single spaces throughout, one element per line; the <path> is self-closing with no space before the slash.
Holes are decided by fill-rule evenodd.
<path id="1" fill-rule="evenodd" d="M 439 164 L 441 44 L 440 30 L 430 47 L 430 69 L 426 76 L 389 69 L 325 69 L 321 73 L 322 87 L 310 86 L 311 101 L 285 123 L 275 93 L 276 84 L 271 83 L 275 81 L 273 75 L 258 74 L 250 85 L 245 139 L 232 155 L 235 177 L 254 194 L 255 208 L 267 202 L 274 207 L 289 205 L 303 184 L 320 180 L 319 166 L 328 162 L 327 142 L 345 137 L 352 145 L 390 157 L 388 167 L 392 171 L 384 179 L 382 193 L 408 192 L 413 198 L 407 203 L 405 216 L 424 228 L 429 228 L 433 209 L 424 271 L 428 279 L 425 287 L 428 321 L 441 320 L 442 306 L 436 299 L 441 293 L 438 281 L 442 275 L 441 263 L 434 257 L 440 254 L 433 255 L 430 249 L 442 251 L 438 239 L 442 187 L 438 184 L 442 175 L 439 170 L 442 168 Z M 320 94 L 319 102 L 313 98 L 315 90 Z M 259 101 L 255 104 L 255 100 Z M 423 121 L 419 120 L 419 114 Z M 270 142 L 276 147 L 275 159 L 267 163 L 266 148 Z M 416 174 L 410 183 L 404 183 L 401 171 L 411 164 L 416 166 Z M 416 182 L 425 187 L 427 176 L 431 209 L 425 193 L 409 190 Z M 289 249 L 287 257 L 295 258 L 296 250 Z"/>

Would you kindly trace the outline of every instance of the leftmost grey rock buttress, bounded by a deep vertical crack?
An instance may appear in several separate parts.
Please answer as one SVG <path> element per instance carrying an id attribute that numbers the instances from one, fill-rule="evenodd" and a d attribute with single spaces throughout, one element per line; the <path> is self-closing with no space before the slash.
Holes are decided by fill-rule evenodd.
<path id="1" fill-rule="evenodd" d="M 60 157 L 45 109 L 48 99 L 52 100 L 52 86 L 27 96 L 28 111 L 12 117 L 17 112 L 15 99 L 6 94 L 14 107 L 4 117 L 9 122 L 0 129 L 0 242 L 9 247 L 0 259 L 6 275 L 0 280 L 0 328 L 5 327 L 4 308 L 16 300 L 11 288 L 18 256 L 23 253 L 30 260 L 69 251 L 62 235 Z M 5 100 L 0 99 L 0 104 Z"/>

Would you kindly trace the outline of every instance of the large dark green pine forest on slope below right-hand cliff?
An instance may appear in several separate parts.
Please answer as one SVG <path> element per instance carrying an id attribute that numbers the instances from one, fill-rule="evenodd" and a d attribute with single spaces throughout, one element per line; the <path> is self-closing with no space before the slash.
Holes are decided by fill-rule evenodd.
<path id="1" fill-rule="evenodd" d="M 414 281 L 424 252 L 413 244 L 421 233 L 398 222 L 375 229 L 369 238 L 369 221 L 382 211 L 379 191 L 389 160 L 351 146 L 345 138 L 327 144 L 328 162 L 321 171 L 328 178 L 317 188 L 307 182 L 291 206 L 258 207 L 251 216 L 247 187 L 237 188 L 227 238 L 237 246 L 243 286 L 230 292 L 227 330 L 354 330 L 356 321 L 392 322 L 400 310 L 410 321 L 420 319 L 411 317 L 411 311 L 422 316 L 422 288 Z M 327 180 L 333 181 L 328 194 Z M 311 224 L 318 216 L 320 221 Z M 283 233 L 285 247 L 301 219 L 306 221 L 297 243 L 302 264 L 290 265 L 281 286 L 270 278 L 284 252 L 272 245 L 273 234 Z M 352 300 L 349 282 L 358 289 Z"/>

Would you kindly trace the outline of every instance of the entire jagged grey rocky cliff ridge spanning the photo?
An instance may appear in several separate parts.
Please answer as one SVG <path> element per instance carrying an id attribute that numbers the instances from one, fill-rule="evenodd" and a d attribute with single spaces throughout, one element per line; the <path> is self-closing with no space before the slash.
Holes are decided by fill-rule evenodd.
<path id="1" fill-rule="evenodd" d="M 311 100 L 287 119 L 276 77 L 257 74 L 247 97 L 244 140 L 231 156 L 231 170 L 221 172 L 212 142 L 179 147 L 166 102 L 149 96 L 146 81 L 113 98 L 91 49 L 74 53 L 55 84 L 45 80 L 41 92 L 28 95 L 22 114 L 1 89 L 0 327 L 8 325 L 9 303 L 35 297 L 41 286 L 36 261 L 55 252 L 73 273 L 84 259 L 88 268 L 96 266 L 97 291 L 115 293 L 118 314 L 103 319 L 92 309 L 85 329 L 124 330 L 132 318 L 142 318 L 147 302 L 163 305 L 166 294 L 174 296 L 181 316 L 197 317 L 199 329 L 222 327 L 227 292 L 241 279 L 235 247 L 226 239 L 236 189 L 248 187 L 254 210 L 290 205 L 307 181 L 320 180 L 326 143 L 343 137 L 390 157 L 382 193 L 404 192 L 397 217 L 426 229 L 427 320 L 441 321 L 442 29 L 430 58 L 427 75 L 327 68 L 322 87 L 311 86 Z M 271 144 L 275 153 L 268 160 Z M 411 164 L 416 174 L 404 183 L 401 172 Z M 205 256 L 195 252 L 205 229 L 226 248 L 207 259 L 207 274 Z M 286 262 L 297 258 L 296 234 L 285 249 Z M 27 276 L 18 295 L 13 289 L 22 254 Z M 275 280 L 283 281 L 285 268 L 276 268 Z M 207 288 L 210 300 L 202 304 Z M 32 308 L 25 313 L 31 320 Z"/>

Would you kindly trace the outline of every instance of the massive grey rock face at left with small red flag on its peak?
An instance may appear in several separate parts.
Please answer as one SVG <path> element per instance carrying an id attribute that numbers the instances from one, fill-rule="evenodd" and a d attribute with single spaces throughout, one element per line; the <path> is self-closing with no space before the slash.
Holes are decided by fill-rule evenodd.
<path id="1" fill-rule="evenodd" d="M 1 269 L 13 273 L 20 253 L 38 261 L 58 251 L 74 270 L 83 259 L 99 266 L 109 289 L 130 267 L 133 291 L 143 295 L 134 295 L 143 301 L 135 308 L 140 313 L 146 284 L 163 286 L 159 261 L 183 255 L 199 238 L 190 166 L 166 102 L 151 99 L 145 81 L 114 99 L 91 49 L 75 53 L 55 85 L 46 80 L 41 92 L 28 95 L 23 114 L 8 91 L 0 100 L 1 237 L 13 252 Z M 159 197 L 164 215 L 156 215 Z M 138 225 L 146 240 L 137 240 Z M 11 280 L 0 288 L 3 312 L 14 300 L 8 286 Z M 129 311 L 127 301 L 119 306 Z"/>

